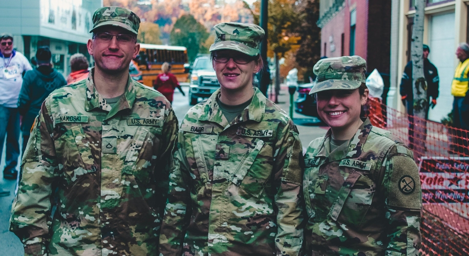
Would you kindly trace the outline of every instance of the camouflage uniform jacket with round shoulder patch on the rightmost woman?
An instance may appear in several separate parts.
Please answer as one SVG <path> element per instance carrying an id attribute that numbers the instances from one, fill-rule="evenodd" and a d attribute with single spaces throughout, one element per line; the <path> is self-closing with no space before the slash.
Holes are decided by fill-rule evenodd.
<path id="1" fill-rule="evenodd" d="M 418 255 L 420 179 L 412 152 L 367 119 L 330 152 L 313 140 L 303 179 L 308 255 Z"/>

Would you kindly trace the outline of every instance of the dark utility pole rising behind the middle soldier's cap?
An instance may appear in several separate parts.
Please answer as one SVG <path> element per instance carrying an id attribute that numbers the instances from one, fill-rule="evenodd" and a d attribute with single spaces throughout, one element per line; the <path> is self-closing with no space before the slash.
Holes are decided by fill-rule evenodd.
<path id="1" fill-rule="evenodd" d="M 269 16 L 268 4 L 269 0 L 261 0 L 260 26 L 262 29 L 264 29 L 265 32 L 264 39 L 261 41 L 261 57 L 265 66 L 259 75 L 259 90 L 261 90 L 265 96 L 267 96 L 267 88 L 270 83 L 270 73 L 267 63 L 267 20 Z"/>

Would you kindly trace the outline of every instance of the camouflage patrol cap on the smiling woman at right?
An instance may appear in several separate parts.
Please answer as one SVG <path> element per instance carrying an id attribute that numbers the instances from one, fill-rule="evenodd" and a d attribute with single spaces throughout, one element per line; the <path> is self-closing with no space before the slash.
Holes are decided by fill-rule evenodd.
<path id="1" fill-rule="evenodd" d="M 357 89 L 362 82 L 366 81 L 366 71 L 367 62 L 360 56 L 342 56 L 319 60 L 313 68 L 316 84 L 309 94 L 326 90 Z"/>

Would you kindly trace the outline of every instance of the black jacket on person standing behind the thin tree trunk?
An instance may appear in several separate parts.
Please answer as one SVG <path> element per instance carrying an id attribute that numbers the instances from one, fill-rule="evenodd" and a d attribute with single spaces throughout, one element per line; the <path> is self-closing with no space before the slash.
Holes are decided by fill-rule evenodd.
<path id="1" fill-rule="evenodd" d="M 423 75 L 425 77 L 425 81 L 427 81 L 427 100 L 430 103 L 430 97 L 432 97 L 432 99 L 438 98 L 440 78 L 438 77 L 438 70 L 428 59 L 423 60 Z M 407 62 L 406 68 L 404 68 L 404 73 L 402 74 L 400 82 L 400 95 L 407 96 L 408 114 L 413 113 L 413 107 L 409 108 L 409 106 L 412 106 L 414 101 L 414 87 L 412 86 L 412 82 L 412 61 L 409 61 Z"/>

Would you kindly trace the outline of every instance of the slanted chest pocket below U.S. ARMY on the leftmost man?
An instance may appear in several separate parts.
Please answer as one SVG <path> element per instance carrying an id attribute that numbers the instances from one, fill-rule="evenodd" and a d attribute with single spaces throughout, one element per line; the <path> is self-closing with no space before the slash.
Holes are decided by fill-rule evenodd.
<path id="1" fill-rule="evenodd" d="M 138 127 L 125 156 L 122 173 L 133 175 L 143 183 L 149 181 L 158 157 L 159 137 L 155 134 L 161 135 L 161 129 L 150 131 Z"/>

